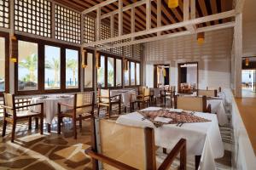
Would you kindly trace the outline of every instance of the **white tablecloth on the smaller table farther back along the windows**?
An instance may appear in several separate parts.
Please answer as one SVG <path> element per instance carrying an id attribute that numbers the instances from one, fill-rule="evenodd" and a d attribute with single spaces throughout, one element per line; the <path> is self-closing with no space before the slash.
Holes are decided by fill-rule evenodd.
<path id="1" fill-rule="evenodd" d="M 121 94 L 121 102 L 125 105 L 125 107 L 130 106 L 131 94 L 136 94 L 135 90 L 111 90 L 110 96 Z M 136 96 L 133 96 L 136 98 Z"/>

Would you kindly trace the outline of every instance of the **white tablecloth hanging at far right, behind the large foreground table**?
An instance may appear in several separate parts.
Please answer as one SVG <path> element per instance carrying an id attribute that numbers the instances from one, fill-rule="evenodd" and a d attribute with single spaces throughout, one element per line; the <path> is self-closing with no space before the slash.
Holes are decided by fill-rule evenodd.
<path id="1" fill-rule="evenodd" d="M 218 124 L 224 126 L 229 122 L 228 116 L 224 109 L 224 103 L 222 99 L 207 99 L 207 105 L 211 105 L 213 114 L 217 114 Z"/>

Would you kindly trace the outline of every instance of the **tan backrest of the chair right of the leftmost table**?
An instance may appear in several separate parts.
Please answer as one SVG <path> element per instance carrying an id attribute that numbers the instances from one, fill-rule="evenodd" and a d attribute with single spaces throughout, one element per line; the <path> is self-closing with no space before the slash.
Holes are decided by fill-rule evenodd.
<path id="1" fill-rule="evenodd" d="M 83 106 L 83 105 L 90 105 L 87 107 L 82 107 L 77 109 L 77 112 L 83 113 L 90 113 L 93 111 L 94 105 L 94 93 L 93 92 L 83 92 L 74 95 L 74 108 Z"/>

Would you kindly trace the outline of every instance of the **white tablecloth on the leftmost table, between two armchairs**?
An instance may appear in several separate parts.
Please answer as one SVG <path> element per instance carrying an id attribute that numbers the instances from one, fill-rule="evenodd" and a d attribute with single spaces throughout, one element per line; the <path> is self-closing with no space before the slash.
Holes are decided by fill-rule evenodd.
<path id="1" fill-rule="evenodd" d="M 47 98 L 32 98 L 31 103 L 44 103 L 44 116 L 45 122 L 51 124 L 55 115 L 58 114 L 58 103 L 65 103 L 69 105 L 73 105 L 73 95 L 65 95 L 65 97 L 61 98 L 64 95 L 49 95 Z M 66 111 L 68 108 L 66 106 L 61 106 L 61 111 Z M 41 111 L 40 106 L 32 106 L 30 108 L 31 111 Z"/>

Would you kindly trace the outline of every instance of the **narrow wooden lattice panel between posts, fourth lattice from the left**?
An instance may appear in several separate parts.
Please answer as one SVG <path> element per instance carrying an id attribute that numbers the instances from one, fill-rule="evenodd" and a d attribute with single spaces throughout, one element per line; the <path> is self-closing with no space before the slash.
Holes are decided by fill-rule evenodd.
<path id="1" fill-rule="evenodd" d="M 84 15 L 84 43 L 95 41 L 95 19 Z"/>

